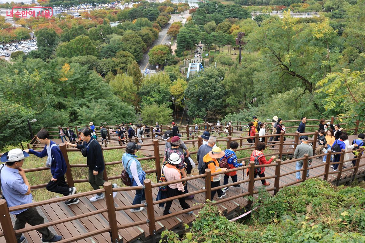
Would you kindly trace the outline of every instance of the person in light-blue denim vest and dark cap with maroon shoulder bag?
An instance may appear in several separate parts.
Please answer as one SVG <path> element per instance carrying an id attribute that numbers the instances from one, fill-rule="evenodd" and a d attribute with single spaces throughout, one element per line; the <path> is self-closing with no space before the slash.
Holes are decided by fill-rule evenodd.
<path id="1" fill-rule="evenodd" d="M 126 152 L 122 155 L 123 168 L 127 172 L 132 187 L 143 185 L 143 180 L 146 179 L 146 172 L 143 171 L 141 163 L 137 160 L 135 153 L 141 149 L 141 145 L 137 142 L 128 142 Z M 136 190 L 136 195 L 132 202 L 132 205 L 141 204 L 145 201 L 145 191 L 143 189 Z M 143 211 L 143 207 L 131 208 L 132 213 Z"/>

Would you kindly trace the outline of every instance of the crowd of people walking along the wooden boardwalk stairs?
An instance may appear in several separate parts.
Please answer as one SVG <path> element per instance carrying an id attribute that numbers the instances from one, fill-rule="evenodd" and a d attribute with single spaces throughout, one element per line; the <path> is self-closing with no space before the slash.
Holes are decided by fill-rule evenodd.
<path id="1" fill-rule="evenodd" d="M 305 154 L 308 154 L 309 157 L 313 156 L 314 149 L 312 148 L 308 136 L 303 134 L 305 133 L 306 123 L 306 117 L 302 117 L 301 122 L 297 128 L 297 131 L 301 133 L 301 143 L 296 146 L 293 153 L 293 158 L 303 158 L 305 157 Z M 219 126 L 219 124 L 220 122 L 217 121 L 217 126 Z M 228 122 L 228 126 L 229 125 L 231 125 L 231 122 Z M 260 122 L 256 116 L 253 116 L 253 122 L 250 122 L 248 126 L 249 136 L 254 136 L 257 132 L 260 134 L 260 136 L 266 134 L 264 122 Z M 123 137 L 123 140 L 124 137 L 128 137 L 129 139 L 129 142 L 126 141 L 127 146 L 125 153 L 122 155 L 122 163 L 123 168 L 131 181 L 131 186 L 142 186 L 143 188 L 143 181 L 146 179 L 146 172 L 143 171 L 141 162 L 139 162 L 136 156 L 136 152 L 141 149 L 141 145 L 139 145 L 138 142 L 132 142 L 131 138 L 133 136 L 137 136 L 139 143 L 142 143 L 141 138 L 143 133 L 147 132 L 147 128 L 145 125 L 138 124 L 137 134 L 131 132 L 135 131 L 135 129 L 136 127 L 132 123 L 120 124 L 120 127 L 118 128 L 118 137 Z M 157 122 L 153 129 L 156 134 L 155 136 L 165 141 L 165 152 L 160 182 L 186 178 L 189 174 L 191 174 L 192 169 L 195 168 L 195 162 L 190 157 L 189 149 L 180 139 L 181 134 L 177 125 L 173 122 L 172 130 L 165 131 L 163 136 L 160 126 Z M 195 126 L 195 129 L 198 129 L 197 125 Z M 82 156 L 86 157 L 88 165 L 88 181 L 92 188 L 97 190 L 103 187 L 103 184 L 105 183 L 105 161 L 101 146 L 96 140 L 95 130 L 96 128 L 92 122 L 89 123 L 89 127 L 81 129 L 79 131 L 79 137 L 82 143 L 79 144 L 74 143 L 76 140 L 76 135 L 70 128 L 63 129 L 59 127 L 59 136 L 61 137 L 62 142 L 79 149 Z M 274 116 L 272 118 L 271 134 L 280 134 L 282 131 L 285 133 L 283 120 L 277 116 Z M 100 126 L 100 134 L 102 137 L 102 143 L 108 142 L 106 138 L 107 130 L 103 126 Z M 66 137 L 69 139 L 69 141 L 66 139 Z M 236 141 L 231 141 L 229 149 L 222 150 L 216 145 L 216 138 L 211 136 L 210 132 L 203 132 L 201 134 L 201 138 L 203 139 L 203 144 L 199 147 L 196 156 L 199 174 L 204 174 L 206 169 L 210 169 L 211 173 L 224 172 L 223 186 L 229 184 L 228 180 L 231 177 L 231 187 L 240 187 L 240 184 L 237 183 L 237 171 L 228 172 L 229 169 L 245 166 L 245 162 L 239 162 L 239 158 L 236 154 L 239 146 L 238 143 Z M 270 137 L 270 141 L 272 141 L 272 138 L 274 141 L 277 141 L 278 136 Z M 65 139 L 65 141 L 63 139 Z M 255 138 L 249 139 L 249 143 L 255 142 Z M 318 140 L 318 146 L 315 149 L 315 154 L 320 155 L 326 153 L 328 150 L 331 150 L 332 152 L 340 152 L 341 149 L 345 149 L 346 152 L 350 152 L 353 149 L 364 146 L 365 135 L 363 133 L 358 134 L 358 138 L 353 140 L 352 144 L 350 145 L 350 141 L 348 140 L 346 132 L 343 131 L 339 124 L 330 124 L 329 122 L 326 122 L 324 119 L 322 119 L 318 128 L 318 137 L 315 139 Z M 4 164 L 0 167 L 0 188 L 2 196 L 7 201 L 9 207 L 32 202 L 30 184 L 27 180 L 24 169 L 22 168 L 25 159 L 29 157 L 30 154 L 34 154 L 37 157 L 47 157 L 46 166 L 50 168 L 51 172 L 49 183 L 46 185 L 46 189 L 48 191 L 58 193 L 63 196 L 74 195 L 77 191 L 76 187 L 69 187 L 65 181 L 67 165 L 58 145 L 54 141 L 50 140 L 49 132 L 45 129 L 41 129 L 37 133 L 37 141 L 39 144 L 45 145 L 41 152 L 37 152 L 33 149 L 12 149 L 1 156 L 1 162 L 4 162 Z M 260 139 L 260 141 L 257 142 L 257 146 L 251 153 L 250 161 L 254 161 L 255 165 L 265 165 L 272 163 L 276 156 L 271 156 L 269 160 L 266 160 L 264 155 L 265 148 L 265 142 Z M 351 161 L 351 154 L 352 153 L 345 154 L 344 161 L 349 160 L 349 162 L 343 163 L 344 169 L 347 168 L 346 166 L 348 166 L 350 162 L 352 165 L 355 165 L 356 163 L 357 156 L 355 155 Z M 340 154 L 334 154 L 331 156 L 330 160 L 333 162 L 339 162 L 340 156 Z M 326 156 L 323 156 L 323 162 L 326 161 Z M 303 164 L 303 160 L 297 161 L 296 170 L 300 170 L 303 167 Z M 311 164 L 312 159 L 309 158 L 307 163 L 308 167 L 310 167 Z M 339 164 L 334 164 L 331 167 L 333 168 L 333 171 L 338 171 L 338 166 Z M 3 171 L 2 174 L 1 171 Z M 246 174 L 249 176 L 249 169 L 247 169 Z M 254 178 L 257 176 L 260 178 L 265 177 L 265 167 L 256 167 L 254 169 Z M 307 169 L 306 176 L 309 177 L 309 169 Z M 296 172 L 296 180 L 301 180 L 300 171 Z M 214 200 L 216 194 L 218 194 L 218 199 L 222 199 L 224 196 L 226 196 L 226 192 L 230 189 L 228 186 L 223 187 L 222 189 L 214 189 L 216 187 L 220 187 L 220 183 L 221 174 L 213 174 L 211 176 L 211 200 Z M 263 186 L 270 185 L 270 182 L 267 182 L 265 179 L 262 179 L 261 183 Z M 112 184 L 112 188 L 117 187 L 117 184 Z M 187 181 L 172 183 L 160 187 L 156 200 L 166 199 L 187 193 Z M 113 192 L 113 197 L 116 195 L 117 192 Z M 89 201 L 95 202 L 104 199 L 104 197 L 104 193 L 97 193 L 96 195 L 92 196 Z M 192 200 L 193 198 L 194 195 L 187 195 L 185 197 L 179 198 L 178 201 L 183 209 L 189 209 L 190 206 L 185 200 Z M 80 200 L 78 198 L 74 198 L 66 200 L 64 203 L 65 205 L 69 206 L 78 204 L 79 201 Z M 132 205 L 143 204 L 144 201 L 144 190 L 136 189 Z M 168 215 L 171 213 L 170 208 L 172 206 L 172 200 L 167 201 L 166 203 L 161 203 L 159 206 L 165 207 L 164 215 Z M 135 207 L 130 209 L 130 211 L 133 213 L 141 212 L 143 210 L 144 207 Z M 32 226 L 44 223 L 43 217 L 38 213 L 36 208 L 22 209 L 13 211 L 11 213 L 16 217 L 14 230 L 24 228 L 26 223 Z M 192 214 L 193 211 L 186 211 L 186 213 Z M 49 228 L 46 227 L 38 229 L 37 231 L 42 235 L 41 242 L 43 243 L 58 242 L 62 239 L 61 236 L 54 235 L 49 230 Z M 25 237 L 22 234 L 17 234 L 16 239 L 18 243 L 23 243 L 25 241 Z"/>

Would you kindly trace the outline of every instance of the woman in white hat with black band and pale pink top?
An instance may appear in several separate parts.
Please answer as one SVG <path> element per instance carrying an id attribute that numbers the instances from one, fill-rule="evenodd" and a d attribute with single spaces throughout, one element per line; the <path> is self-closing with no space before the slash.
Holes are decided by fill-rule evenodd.
<path id="1" fill-rule="evenodd" d="M 171 153 L 170 157 L 168 158 L 168 161 L 166 162 L 167 163 L 164 166 L 162 166 L 162 170 L 165 175 L 166 181 L 174 181 L 181 179 L 180 170 L 178 169 L 178 166 L 182 162 L 181 156 L 179 156 L 177 153 Z M 167 185 L 166 198 L 179 196 L 183 193 L 185 193 L 185 188 L 182 182 Z M 183 210 L 190 208 L 189 204 L 185 202 L 184 197 L 181 197 L 178 200 Z M 171 213 L 170 208 L 172 205 L 172 201 L 173 200 L 166 202 L 164 215 L 168 215 Z M 187 214 L 192 214 L 192 213 L 193 211 L 187 212 Z"/>

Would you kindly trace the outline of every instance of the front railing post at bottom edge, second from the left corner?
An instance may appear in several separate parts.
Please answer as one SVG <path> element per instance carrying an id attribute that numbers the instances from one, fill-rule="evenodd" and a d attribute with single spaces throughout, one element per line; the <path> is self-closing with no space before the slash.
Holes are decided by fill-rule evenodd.
<path id="1" fill-rule="evenodd" d="M 113 199 L 113 188 L 110 182 L 104 182 L 105 201 L 108 209 L 108 221 L 112 243 L 119 242 L 118 224 L 116 222 L 115 205 Z"/>

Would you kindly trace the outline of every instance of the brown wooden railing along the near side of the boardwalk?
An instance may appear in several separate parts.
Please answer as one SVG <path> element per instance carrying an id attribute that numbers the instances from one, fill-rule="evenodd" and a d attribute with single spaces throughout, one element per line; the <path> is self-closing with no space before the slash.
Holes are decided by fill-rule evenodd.
<path id="1" fill-rule="evenodd" d="M 281 137 L 283 137 L 283 133 L 281 134 Z M 280 141 L 283 141 L 283 139 L 280 139 Z M 275 195 L 279 191 L 279 189 L 281 189 L 283 187 L 286 187 L 286 186 L 289 186 L 289 185 L 295 185 L 297 183 L 301 183 L 301 182 L 303 182 L 307 179 L 310 179 L 310 178 L 322 177 L 323 176 L 323 180 L 327 181 L 328 175 L 337 174 L 337 178 L 339 179 L 339 178 L 341 178 L 341 173 L 343 171 L 347 171 L 347 170 L 350 170 L 350 169 L 354 169 L 354 175 L 353 176 L 355 178 L 357 169 L 359 167 L 365 165 L 365 164 L 360 164 L 363 149 L 360 148 L 357 151 L 359 151 L 360 153 L 359 153 L 358 157 L 356 158 L 356 164 L 354 166 L 350 167 L 350 168 L 347 168 L 346 170 L 342 170 L 343 163 L 347 162 L 347 161 L 344 161 L 345 153 L 351 153 L 353 151 L 345 152 L 345 150 L 342 149 L 341 152 L 332 153 L 331 151 L 328 151 L 325 154 L 319 154 L 319 155 L 315 155 L 315 156 L 308 156 L 308 154 L 305 154 L 304 157 L 296 158 L 296 159 L 293 159 L 293 160 L 287 160 L 287 161 L 282 161 L 281 159 L 276 159 L 274 161 L 274 163 L 265 164 L 265 165 L 255 165 L 253 161 L 250 161 L 249 164 L 246 165 L 246 166 L 242 166 L 242 167 L 234 168 L 234 169 L 229 169 L 227 171 L 227 172 L 233 172 L 233 171 L 242 170 L 243 175 L 244 175 L 244 170 L 248 169 L 249 173 L 248 173 L 248 178 L 246 180 L 244 180 L 244 178 L 242 178 L 242 180 L 240 180 L 240 181 L 230 183 L 230 184 L 226 184 L 226 185 L 221 185 L 219 187 L 214 187 L 214 188 L 211 187 L 211 177 L 216 176 L 216 175 L 220 175 L 220 174 L 223 174 L 223 173 L 227 173 L 227 172 L 221 171 L 221 172 L 211 173 L 210 169 L 205 169 L 205 173 L 202 174 L 202 175 L 191 176 L 191 177 L 183 178 L 183 179 L 180 179 L 180 180 L 167 181 L 167 182 L 164 182 L 164 183 L 157 183 L 157 184 L 151 184 L 150 179 L 145 179 L 144 180 L 145 187 L 136 186 L 136 187 L 112 188 L 112 185 L 111 185 L 110 182 L 105 182 L 103 189 L 94 190 L 94 191 L 90 191 L 90 192 L 77 193 L 75 195 L 59 197 L 59 198 L 55 198 L 55 199 L 50 199 L 50 200 L 45 200 L 45 201 L 40 201 L 40 202 L 35 202 L 35 203 L 30 203 L 30 204 L 19 205 L 19 206 L 10 207 L 10 208 L 7 207 L 7 203 L 6 203 L 5 200 L 0 200 L 0 210 L 1 210 L 1 214 L 2 214 L 2 216 L 0 217 L 0 222 L 1 222 L 1 227 L 3 229 L 3 232 L 0 232 L 0 237 L 4 236 L 5 241 L 7 243 L 16 243 L 15 234 L 30 232 L 30 231 L 37 230 L 39 228 L 54 226 L 54 225 L 57 225 L 57 224 L 70 222 L 72 220 L 81 219 L 82 217 L 88 217 L 88 216 L 96 215 L 96 214 L 99 214 L 99 213 L 105 213 L 105 212 L 107 212 L 107 214 L 108 214 L 109 227 L 104 227 L 104 228 L 101 228 L 101 229 L 98 229 L 98 230 L 95 230 L 95 231 L 88 232 L 86 234 L 73 236 L 72 238 L 64 239 L 60 242 L 61 243 L 74 242 L 76 240 L 89 238 L 91 236 L 102 234 L 104 232 L 110 232 L 111 239 L 112 239 L 113 243 L 120 242 L 118 230 L 124 229 L 124 228 L 130 228 L 130 227 L 134 227 L 134 226 L 139 226 L 139 225 L 142 225 L 142 224 L 148 224 L 148 228 L 149 228 L 148 234 L 149 234 L 149 236 L 154 236 L 155 235 L 156 222 L 168 219 L 168 218 L 173 217 L 173 216 L 178 216 L 178 215 L 181 215 L 183 213 L 187 213 L 188 211 L 197 210 L 197 209 L 204 206 L 203 204 L 199 204 L 199 205 L 195 205 L 195 206 L 193 206 L 191 208 L 188 208 L 188 209 L 184 209 L 184 210 L 181 210 L 181 211 L 178 211 L 178 212 L 170 213 L 169 215 L 156 216 L 155 215 L 155 205 L 157 205 L 159 203 L 166 203 L 167 201 L 170 201 L 170 200 L 173 200 L 173 199 L 179 199 L 179 198 L 182 198 L 182 197 L 186 197 L 186 196 L 189 196 L 189 195 L 197 195 L 197 194 L 200 194 L 200 193 L 204 193 L 204 195 L 205 195 L 204 197 L 205 197 L 205 201 L 206 201 L 206 200 L 211 199 L 211 191 L 212 190 L 222 189 L 224 187 L 229 187 L 231 185 L 239 185 L 239 184 L 242 184 L 242 188 L 243 188 L 243 184 L 245 184 L 245 183 L 248 184 L 248 191 L 247 192 L 242 191 L 242 193 L 238 193 L 234 196 L 230 196 L 230 197 L 227 197 L 225 199 L 221 199 L 221 200 L 218 200 L 218 201 L 215 201 L 215 202 L 212 203 L 214 205 L 222 204 L 222 203 L 225 203 L 226 201 L 238 199 L 239 197 L 244 197 L 244 196 L 248 196 L 248 195 L 254 196 L 255 194 L 258 193 L 257 190 L 254 190 L 254 182 L 257 181 L 257 180 L 263 180 L 263 179 L 274 179 L 273 187 L 266 187 L 266 191 L 273 191 L 273 194 Z M 332 163 L 330 162 L 331 155 L 333 155 L 333 154 L 341 154 L 339 162 L 332 162 Z M 310 159 L 318 158 L 322 155 L 327 155 L 326 163 L 321 163 L 321 164 L 316 165 L 316 166 L 308 167 L 308 162 L 309 162 Z M 266 154 L 266 156 L 268 156 L 268 154 Z M 287 172 L 287 173 L 281 173 L 281 165 L 286 165 L 286 164 L 297 162 L 297 161 L 303 161 L 303 167 L 301 169 L 291 171 L 291 172 Z M 330 167 L 331 164 L 339 164 L 339 171 L 328 172 L 329 167 Z M 275 167 L 275 173 L 274 173 L 273 176 L 265 176 L 265 177 L 254 178 L 255 168 L 260 168 L 260 167 Z M 314 168 L 319 168 L 319 167 L 324 168 L 323 173 L 307 178 L 307 170 L 308 169 L 314 169 Z M 296 172 L 302 172 L 302 176 L 301 176 L 300 180 L 293 181 L 292 183 L 287 183 L 287 184 L 284 184 L 284 185 L 280 186 L 280 178 L 281 177 L 284 177 L 284 176 L 287 176 L 289 174 L 296 173 Z M 161 185 L 170 185 L 170 184 L 180 183 L 180 182 L 189 181 L 189 180 L 196 180 L 196 179 L 199 180 L 203 177 L 205 177 L 205 179 L 204 179 L 205 180 L 205 189 L 189 192 L 189 193 L 186 193 L 186 194 L 183 194 L 183 195 L 169 197 L 169 198 L 162 199 L 162 200 L 157 200 L 157 201 L 153 200 L 153 192 L 152 192 L 153 188 L 157 188 Z M 337 181 L 339 181 L 339 180 L 337 180 Z M 337 182 L 337 184 L 338 184 L 338 182 Z M 136 190 L 136 189 L 143 189 L 144 190 L 145 195 L 146 195 L 146 204 L 115 207 L 115 202 L 114 202 L 114 198 L 112 196 L 112 192 L 132 191 L 132 190 Z M 75 216 L 72 216 L 72 217 L 66 217 L 65 219 L 59 219 L 59 220 L 56 220 L 56 221 L 39 224 L 39 225 L 32 226 L 32 227 L 29 227 L 29 228 L 24 228 L 24 229 L 21 229 L 21 230 L 14 231 L 14 229 L 12 228 L 11 217 L 10 217 L 10 214 L 9 214 L 10 212 L 20 210 L 20 209 L 38 207 L 38 206 L 51 204 L 51 203 L 57 203 L 57 202 L 61 202 L 61 201 L 64 201 L 64 200 L 74 199 L 76 197 L 89 196 L 89 195 L 92 195 L 92 194 L 95 194 L 95 193 L 105 193 L 106 208 L 99 209 L 99 210 L 92 211 L 92 212 L 88 212 L 88 213 L 82 213 L 80 215 L 75 215 Z M 246 208 L 250 208 L 251 204 L 252 204 L 252 201 L 247 200 Z M 145 220 L 140 220 L 140 221 L 137 221 L 137 222 L 134 222 L 134 223 L 118 224 L 118 222 L 116 220 L 116 211 L 128 210 L 128 209 L 131 209 L 131 208 L 144 207 L 144 206 L 147 208 L 147 218 Z"/>

